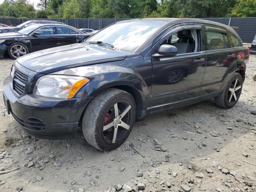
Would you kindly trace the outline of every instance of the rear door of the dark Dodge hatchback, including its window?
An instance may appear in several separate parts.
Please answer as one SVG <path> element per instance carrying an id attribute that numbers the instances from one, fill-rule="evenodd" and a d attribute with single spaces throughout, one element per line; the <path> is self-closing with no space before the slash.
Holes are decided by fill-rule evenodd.
<path id="1" fill-rule="evenodd" d="M 230 47 L 227 31 L 218 26 L 205 26 L 206 69 L 201 98 L 211 98 L 222 90 L 222 82 L 236 70 L 236 52 Z"/>

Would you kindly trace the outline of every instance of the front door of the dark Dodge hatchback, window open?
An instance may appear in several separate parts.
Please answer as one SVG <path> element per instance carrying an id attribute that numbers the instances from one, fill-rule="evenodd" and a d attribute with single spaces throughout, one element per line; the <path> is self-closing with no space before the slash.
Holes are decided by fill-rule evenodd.
<path id="1" fill-rule="evenodd" d="M 171 44 L 178 54 L 169 58 L 152 57 L 151 112 L 186 105 L 199 100 L 206 53 L 202 51 L 201 26 L 175 28 L 162 44 Z M 156 53 L 160 43 L 152 50 Z"/>

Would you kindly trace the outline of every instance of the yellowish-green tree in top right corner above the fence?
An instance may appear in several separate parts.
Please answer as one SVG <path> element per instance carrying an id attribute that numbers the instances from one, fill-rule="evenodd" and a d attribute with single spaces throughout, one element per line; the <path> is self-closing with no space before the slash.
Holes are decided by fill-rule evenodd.
<path id="1" fill-rule="evenodd" d="M 234 17 L 256 17 L 256 0 L 239 0 L 232 10 Z"/>

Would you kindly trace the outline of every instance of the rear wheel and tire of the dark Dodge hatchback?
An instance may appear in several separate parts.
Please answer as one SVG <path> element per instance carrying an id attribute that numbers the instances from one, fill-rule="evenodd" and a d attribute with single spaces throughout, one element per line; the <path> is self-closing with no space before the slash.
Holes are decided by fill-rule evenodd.
<path id="1" fill-rule="evenodd" d="M 223 108 L 232 108 L 237 102 L 242 92 L 242 76 L 235 72 L 228 80 L 221 94 L 214 98 L 216 105 Z"/>

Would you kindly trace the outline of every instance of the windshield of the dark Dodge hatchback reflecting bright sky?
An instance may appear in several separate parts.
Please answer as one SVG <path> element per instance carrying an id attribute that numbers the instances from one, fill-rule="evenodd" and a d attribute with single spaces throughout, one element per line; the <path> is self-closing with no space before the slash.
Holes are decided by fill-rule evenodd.
<path id="1" fill-rule="evenodd" d="M 101 30 L 86 41 L 100 41 L 113 45 L 114 50 L 134 52 L 163 24 L 164 22 L 158 21 L 117 23 Z"/>

